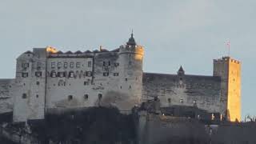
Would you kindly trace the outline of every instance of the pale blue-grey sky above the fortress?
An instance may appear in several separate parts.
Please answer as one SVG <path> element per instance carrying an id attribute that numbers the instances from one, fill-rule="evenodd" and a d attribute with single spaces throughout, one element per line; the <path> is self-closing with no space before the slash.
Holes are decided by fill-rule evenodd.
<path id="1" fill-rule="evenodd" d="M 242 117 L 256 115 L 255 0 L 0 0 L 0 78 L 14 78 L 19 54 L 33 47 L 108 50 L 131 30 L 145 47 L 143 70 L 213 74 L 213 59 L 242 62 Z"/>

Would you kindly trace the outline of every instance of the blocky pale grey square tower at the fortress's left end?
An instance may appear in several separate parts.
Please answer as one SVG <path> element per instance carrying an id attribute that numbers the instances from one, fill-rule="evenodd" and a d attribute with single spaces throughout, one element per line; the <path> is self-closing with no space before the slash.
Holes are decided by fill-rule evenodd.
<path id="1" fill-rule="evenodd" d="M 17 58 L 14 122 L 43 119 L 46 96 L 46 49 L 34 48 Z"/>

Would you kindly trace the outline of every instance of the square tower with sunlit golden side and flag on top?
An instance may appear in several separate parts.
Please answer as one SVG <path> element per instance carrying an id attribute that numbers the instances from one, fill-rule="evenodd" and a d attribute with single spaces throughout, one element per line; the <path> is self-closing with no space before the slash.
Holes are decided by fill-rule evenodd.
<path id="1" fill-rule="evenodd" d="M 234 122 L 241 121 L 241 63 L 230 57 L 214 59 L 214 76 L 220 76 L 221 113 Z"/>

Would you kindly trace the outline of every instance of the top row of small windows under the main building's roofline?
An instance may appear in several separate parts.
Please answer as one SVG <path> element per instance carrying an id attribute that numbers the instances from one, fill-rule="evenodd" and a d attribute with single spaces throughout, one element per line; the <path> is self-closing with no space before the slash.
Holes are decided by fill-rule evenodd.
<path id="1" fill-rule="evenodd" d="M 57 66 L 56 66 L 56 64 L 57 64 Z M 76 68 L 80 68 L 81 67 L 81 62 L 76 62 L 76 63 L 74 63 L 74 62 L 70 62 L 70 63 L 68 63 L 68 62 L 57 62 L 57 63 L 56 62 L 51 62 L 50 63 L 50 67 L 52 69 L 55 69 L 55 67 L 57 67 L 58 69 L 61 69 L 62 67 L 64 69 L 66 69 L 68 67 L 74 68 L 74 66 Z M 87 66 L 91 67 L 92 66 L 92 62 L 91 61 L 87 62 Z"/>

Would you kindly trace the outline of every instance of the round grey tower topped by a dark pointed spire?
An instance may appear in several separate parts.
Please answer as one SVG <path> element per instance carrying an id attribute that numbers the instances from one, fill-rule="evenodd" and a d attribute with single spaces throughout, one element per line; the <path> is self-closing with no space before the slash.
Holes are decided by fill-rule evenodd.
<path id="1" fill-rule="evenodd" d="M 143 54 L 144 49 L 136 44 L 134 34 L 131 34 L 126 45 L 119 48 L 119 87 L 122 89 L 122 97 L 126 97 L 123 103 L 118 106 L 120 110 L 131 110 L 132 107 L 141 103 Z"/>

